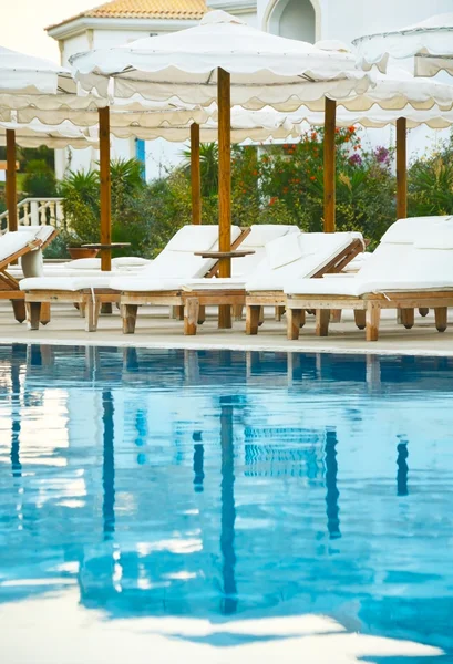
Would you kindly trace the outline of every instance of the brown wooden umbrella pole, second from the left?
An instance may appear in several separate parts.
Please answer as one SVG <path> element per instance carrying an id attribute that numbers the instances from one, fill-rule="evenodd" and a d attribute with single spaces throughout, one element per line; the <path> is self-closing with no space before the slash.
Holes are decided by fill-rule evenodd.
<path id="1" fill-rule="evenodd" d="M 112 243 L 112 199 L 110 177 L 110 108 L 99 110 L 100 179 L 101 179 L 101 245 Z M 101 270 L 112 269 L 112 250 L 101 250 Z"/>

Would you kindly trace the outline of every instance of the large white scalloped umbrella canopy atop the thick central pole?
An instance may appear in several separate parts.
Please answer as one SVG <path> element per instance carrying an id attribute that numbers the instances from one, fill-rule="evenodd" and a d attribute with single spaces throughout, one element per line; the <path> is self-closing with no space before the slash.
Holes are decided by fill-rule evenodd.
<path id="1" fill-rule="evenodd" d="M 140 93 L 200 105 L 217 97 L 218 68 L 231 74 L 231 104 L 248 108 L 295 110 L 369 86 L 352 54 L 261 32 L 224 11 L 208 12 L 195 28 L 79 54 L 71 63 L 82 87 L 104 97 Z"/>

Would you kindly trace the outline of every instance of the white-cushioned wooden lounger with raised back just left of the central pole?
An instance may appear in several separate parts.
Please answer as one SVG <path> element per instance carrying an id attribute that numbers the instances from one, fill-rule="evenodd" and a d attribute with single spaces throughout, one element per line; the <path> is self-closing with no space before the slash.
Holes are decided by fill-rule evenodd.
<path id="1" fill-rule="evenodd" d="M 236 246 L 246 231 L 237 226 L 231 227 L 231 243 Z M 209 251 L 217 248 L 217 226 L 184 226 L 171 239 L 158 257 L 145 266 L 140 278 L 158 278 L 161 280 L 184 280 L 204 277 L 216 270 L 216 259 L 195 256 L 195 251 Z M 22 279 L 20 289 L 25 293 L 28 320 L 31 330 L 39 328 L 42 303 L 74 303 L 82 314 L 86 312 L 85 329 L 95 331 L 101 305 L 120 301 L 120 292 L 112 288 L 113 272 L 91 272 L 79 270 L 69 277 L 61 274 L 41 276 Z M 124 277 L 125 279 L 126 277 Z"/>

